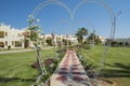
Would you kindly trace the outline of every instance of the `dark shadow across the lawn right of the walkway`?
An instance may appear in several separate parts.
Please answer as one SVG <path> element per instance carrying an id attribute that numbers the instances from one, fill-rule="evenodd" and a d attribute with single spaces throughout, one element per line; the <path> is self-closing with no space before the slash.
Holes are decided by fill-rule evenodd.
<path id="1" fill-rule="evenodd" d="M 113 69 L 102 70 L 101 77 L 130 77 L 130 64 L 116 62 L 114 64 L 106 63 L 106 66 Z"/>

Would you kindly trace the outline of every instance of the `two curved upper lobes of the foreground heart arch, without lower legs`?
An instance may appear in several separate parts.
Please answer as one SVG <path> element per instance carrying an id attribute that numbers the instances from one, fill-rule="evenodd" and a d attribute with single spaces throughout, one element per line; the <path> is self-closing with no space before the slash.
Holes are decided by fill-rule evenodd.
<path id="1" fill-rule="evenodd" d="M 103 6 L 107 11 L 107 13 L 108 13 L 108 15 L 110 17 L 110 23 L 112 23 L 109 39 L 113 39 L 114 34 L 115 34 L 114 12 L 103 0 L 82 0 L 80 3 L 78 3 L 76 5 L 76 8 L 73 11 L 65 3 L 63 3 L 62 1 L 58 1 L 58 0 L 48 0 L 48 1 L 44 1 L 44 2 L 40 3 L 38 6 L 36 6 L 36 9 L 31 13 L 31 18 L 35 18 L 37 16 L 38 12 L 40 10 L 42 10 L 43 8 L 46 8 L 48 5 L 51 5 L 51 4 L 56 4 L 56 5 L 60 5 L 60 6 L 62 6 L 63 9 L 65 9 L 67 11 L 67 13 L 69 14 L 69 16 L 72 18 L 72 22 L 73 22 L 74 16 L 76 14 L 76 11 L 80 6 L 82 6 L 82 5 L 84 5 L 84 4 L 89 3 L 89 2 L 98 3 L 98 4 L 100 4 L 101 6 Z"/>

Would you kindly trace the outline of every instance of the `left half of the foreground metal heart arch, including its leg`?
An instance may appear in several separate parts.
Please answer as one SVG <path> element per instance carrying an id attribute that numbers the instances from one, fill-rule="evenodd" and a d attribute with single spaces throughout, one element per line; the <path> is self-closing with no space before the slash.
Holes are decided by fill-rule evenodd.
<path id="1" fill-rule="evenodd" d="M 35 23 L 35 18 L 36 18 L 36 16 L 37 16 L 38 12 L 39 12 L 41 9 L 43 9 L 43 8 L 46 8 L 46 6 L 50 5 L 50 4 L 56 4 L 56 5 L 60 5 L 60 6 L 64 8 L 64 9 L 68 12 L 70 18 L 73 18 L 73 13 L 72 13 L 70 9 L 69 9 L 66 4 L 64 4 L 63 2 L 61 2 L 61 1 L 58 1 L 58 0 L 47 0 L 47 1 L 42 2 L 42 3 L 40 3 L 38 6 L 36 6 L 36 9 L 35 9 L 35 10 L 32 11 L 32 13 L 30 14 L 30 20 L 32 20 L 31 24 Z M 42 62 L 41 62 L 41 57 L 40 57 L 40 54 L 39 54 L 37 47 L 36 47 L 36 53 L 37 53 L 37 58 L 38 58 L 38 60 L 39 60 L 39 64 L 40 64 L 40 68 L 41 68 L 41 71 L 42 71 L 42 75 L 43 75 L 44 72 L 47 73 L 47 71 L 46 71 L 46 69 L 44 69 L 44 66 L 43 66 Z M 41 75 L 38 76 L 38 80 L 36 81 L 36 83 L 38 83 L 40 78 L 41 78 Z"/>

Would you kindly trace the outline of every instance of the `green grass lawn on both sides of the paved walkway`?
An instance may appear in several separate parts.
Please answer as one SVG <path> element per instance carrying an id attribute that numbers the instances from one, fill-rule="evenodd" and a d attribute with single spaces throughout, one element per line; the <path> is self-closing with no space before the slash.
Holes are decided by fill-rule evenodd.
<path id="1" fill-rule="evenodd" d="M 104 46 L 94 46 L 89 54 L 83 49 L 88 63 L 98 66 Z M 53 57 L 53 49 L 40 53 L 42 59 Z M 30 67 L 36 61 L 35 52 L 0 55 L 0 86 L 30 86 L 38 76 L 37 69 Z M 95 68 L 94 68 L 95 69 Z M 114 81 L 117 86 L 130 85 L 130 47 L 110 47 L 101 71 L 104 78 Z"/>

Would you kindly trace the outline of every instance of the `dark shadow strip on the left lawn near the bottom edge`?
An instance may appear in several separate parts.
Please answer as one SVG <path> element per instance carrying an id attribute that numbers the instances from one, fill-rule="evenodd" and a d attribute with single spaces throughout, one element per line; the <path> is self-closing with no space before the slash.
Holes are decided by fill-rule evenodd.
<path id="1" fill-rule="evenodd" d="M 34 82 L 35 78 L 21 78 L 21 77 L 0 77 L 1 83 L 8 83 L 12 81 L 20 81 L 20 82 Z"/>

